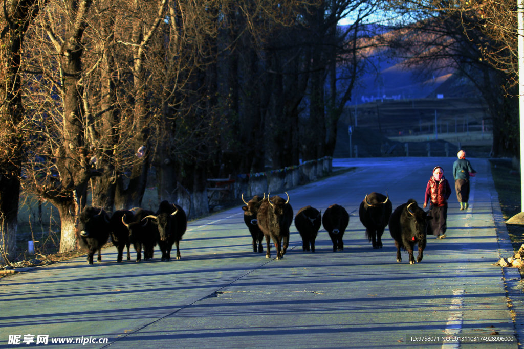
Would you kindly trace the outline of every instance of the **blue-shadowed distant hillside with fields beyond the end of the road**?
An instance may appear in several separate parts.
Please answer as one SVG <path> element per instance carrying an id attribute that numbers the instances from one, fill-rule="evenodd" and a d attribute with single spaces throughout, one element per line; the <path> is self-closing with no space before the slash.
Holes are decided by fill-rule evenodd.
<path id="1" fill-rule="evenodd" d="M 367 67 L 338 122 L 333 156 L 348 157 L 350 148 L 355 156 L 355 145 L 358 157 L 406 156 L 406 149 L 410 156 L 428 156 L 428 149 L 432 156 L 455 156 L 458 147 L 470 156 L 489 156 L 492 122 L 475 87 L 450 67 L 428 78 L 423 66 L 408 64 L 414 57 L 396 57 L 387 47 L 376 45 L 386 36 L 408 40 L 417 33 L 367 29 L 359 43 L 366 47 L 362 52 Z M 377 34 L 369 35 L 372 31 Z M 338 73 L 343 76 L 343 66 Z M 435 139 L 435 123 L 439 139 Z"/>

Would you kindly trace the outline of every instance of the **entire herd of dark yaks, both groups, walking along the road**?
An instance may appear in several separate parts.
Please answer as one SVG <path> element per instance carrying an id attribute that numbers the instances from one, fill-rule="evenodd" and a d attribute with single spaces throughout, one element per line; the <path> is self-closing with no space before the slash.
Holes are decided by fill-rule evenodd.
<path id="1" fill-rule="evenodd" d="M 289 228 L 293 221 L 293 209 L 287 199 L 279 196 L 263 197 L 255 195 L 245 206 L 244 222 L 253 238 L 253 251 L 263 253 L 262 239 L 266 240 L 266 257 L 271 256 L 270 242 L 274 242 L 277 259 L 286 253 L 289 244 Z M 400 249 L 409 254 L 411 264 L 415 263 L 413 246 L 418 244 L 417 262 L 422 260 L 426 244 L 426 229 L 432 217 L 417 206 L 413 199 L 392 210 L 389 196 L 380 193 L 367 194 L 359 207 L 359 218 L 366 228 L 366 237 L 374 249 L 382 247 L 381 236 L 389 224 L 391 237 L 397 247 L 397 262 L 401 262 Z M 344 250 L 342 241 L 349 223 L 349 214 L 340 205 L 331 205 L 323 213 L 311 207 L 302 207 L 294 216 L 294 224 L 302 238 L 302 250 L 315 252 L 315 239 L 321 224 L 333 242 L 333 252 Z M 161 260 L 171 259 L 173 244 L 180 259 L 179 243 L 187 229 L 187 216 L 182 207 L 162 201 L 156 212 L 145 209 L 117 210 L 110 216 L 101 208 L 86 207 L 78 216 L 75 225 L 81 244 L 88 249 L 88 263 L 93 264 L 93 255 L 98 251 L 97 261 L 102 261 L 101 248 L 111 237 L 117 248 L 117 262 L 123 260 L 127 247 L 127 260 L 130 260 L 129 246 L 137 253 L 140 261 L 152 258 L 154 246 L 159 245 Z"/>

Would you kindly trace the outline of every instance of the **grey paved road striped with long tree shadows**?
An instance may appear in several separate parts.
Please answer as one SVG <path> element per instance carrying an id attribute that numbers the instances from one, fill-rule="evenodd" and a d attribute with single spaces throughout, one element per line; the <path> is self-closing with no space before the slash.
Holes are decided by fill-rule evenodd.
<path id="1" fill-rule="evenodd" d="M 510 246 L 489 163 L 470 160 L 470 208 L 460 211 L 452 195 L 448 238 L 430 237 L 421 263 L 407 254 L 397 263 L 388 230 L 373 250 L 358 205 L 386 190 L 394 207 L 421 202 L 432 168 L 451 178 L 454 159 L 335 160 L 357 168 L 288 193 L 294 212 L 335 203 L 350 212 L 343 252 L 332 252 L 323 229 L 316 253 L 302 252 L 291 226 L 285 258 L 254 254 L 239 205 L 190 222 L 180 261 L 160 262 L 157 250 L 152 261 L 116 263 L 111 247 L 92 266 L 79 257 L 0 280 L 0 348 L 27 346 L 27 334 L 49 335 L 48 345 L 107 339 L 84 345 L 96 348 L 478 347 L 495 333 L 512 340 L 489 347 L 519 347 L 522 285 L 516 269 L 493 265 Z M 9 344 L 13 335 L 20 344 Z M 439 340 L 411 341 L 418 336 Z"/>

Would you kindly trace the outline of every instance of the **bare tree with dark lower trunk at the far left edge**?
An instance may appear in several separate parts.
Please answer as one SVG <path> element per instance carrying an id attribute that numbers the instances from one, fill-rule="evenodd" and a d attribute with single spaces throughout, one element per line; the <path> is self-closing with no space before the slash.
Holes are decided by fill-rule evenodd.
<path id="1" fill-rule="evenodd" d="M 0 258 L 7 263 L 15 257 L 20 164 L 27 151 L 19 132 L 24 127 L 22 46 L 38 10 L 36 0 L 4 1 L 0 14 Z"/>

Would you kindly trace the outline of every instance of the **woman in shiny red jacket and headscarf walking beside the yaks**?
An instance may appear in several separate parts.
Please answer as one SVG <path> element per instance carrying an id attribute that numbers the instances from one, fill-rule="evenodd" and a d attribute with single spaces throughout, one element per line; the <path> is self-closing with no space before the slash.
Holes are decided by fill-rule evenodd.
<path id="1" fill-rule="evenodd" d="M 431 204 L 429 215 L 433 217 L 430 221 L 431 231 L 437 239 L 446 237 L 447 199 L 451 195 L 450 183 L 444 177 L 442 167 L 433 168 L 433 176 L 428 181 L 424 196 L 424 208 Z"/>

